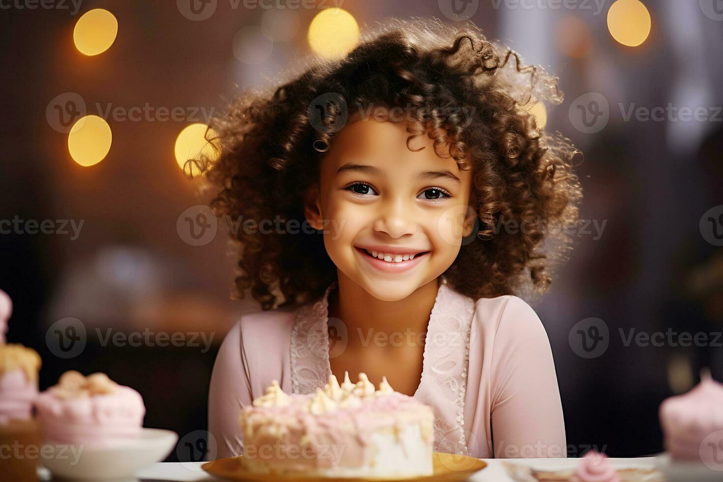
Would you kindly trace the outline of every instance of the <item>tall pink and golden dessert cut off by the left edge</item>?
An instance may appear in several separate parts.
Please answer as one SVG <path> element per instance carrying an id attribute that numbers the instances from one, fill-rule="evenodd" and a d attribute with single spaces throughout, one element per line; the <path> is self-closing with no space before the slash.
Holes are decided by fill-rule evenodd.
<path id="1" fill-rule="evenodd" d="M 0 447 L 39 448 L 42 432 L 33 418 L 33 403 L 38 397 L 40 356 L 19 343 L 6 343 L 11 314 L 12 301 L 0 291 Z M 37 466 L 37 458 L 0 457 L 2 480 L 35 481 Z"/>

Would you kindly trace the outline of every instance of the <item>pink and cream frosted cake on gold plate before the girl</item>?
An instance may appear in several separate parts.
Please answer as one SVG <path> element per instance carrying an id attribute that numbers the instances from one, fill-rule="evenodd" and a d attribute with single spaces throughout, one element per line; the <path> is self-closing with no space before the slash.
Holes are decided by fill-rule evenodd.
<path id="1" fill-rule="evenodd" d="M 343 384 L 330 375 L 323 389 L 288 395 L 276 380 L 241 409 L 241 464 L 254 473 L 312 477 L 432 475 L 432 408 L 379 390 L 367 375 Z"/>

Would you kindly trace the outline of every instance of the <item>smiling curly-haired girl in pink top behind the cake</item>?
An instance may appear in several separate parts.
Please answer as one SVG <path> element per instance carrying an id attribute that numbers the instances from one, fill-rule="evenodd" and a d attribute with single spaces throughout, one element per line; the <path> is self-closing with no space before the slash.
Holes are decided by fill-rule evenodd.
<path id="1" fill-rule="evenodd" d="M 529 112 L 556 84 L 474 25 L 396 21 L 212 124 L 213 207 L 263 310 L 215 361 L 218 457 L 273 379 L 307 394 L 346 371 L 431 405 L 438 452 L 565 457 L 549 341 L 513 295 L 547 288 L 542 241 L 559 253 L 577 220 L 576 151 Z"/>

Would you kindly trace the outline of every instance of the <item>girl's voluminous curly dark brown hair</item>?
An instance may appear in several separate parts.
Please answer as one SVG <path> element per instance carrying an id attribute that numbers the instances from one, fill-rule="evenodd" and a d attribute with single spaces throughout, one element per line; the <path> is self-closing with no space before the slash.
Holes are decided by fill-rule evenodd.
<path id="1" fill-rule="evenodd" d="M 217 158 L 189 163 L 220 187 L 211 205 L 217 215 L 308 225 L 303 200 L 319 182 L 319 148 L 343 129 L 351 107 L 403 106 L 413 117 L 408 141 L 427 134 L 435 152 L 449 146 L 438 155 L 473 169 L 477 234 L 443 273 L 448 283 L 474 299 L 525 284 L 547 289 L 547 268 L 569 249 L 566 228 L 578 223 L 581 199 L 572 163 L 578 151 L 538 128 L 530 112 L 535 102 L 562 102 L 557 77 L 524 66 L 469 22 L 458 28 L 424 19 L 387 22 L 343 58 L 315 59 L 304 69 L 273 90 L 242 92 L 210 123 Z M 460 108 L 474 112 L 471 121 Z M 500 230 L 500 223 L 518 228 Z M 240 244 L 236 297 L 250 288 L 264 310 L 321 296 L 337 277 L 320 232 L 240 229 L 231 236 Z"/>

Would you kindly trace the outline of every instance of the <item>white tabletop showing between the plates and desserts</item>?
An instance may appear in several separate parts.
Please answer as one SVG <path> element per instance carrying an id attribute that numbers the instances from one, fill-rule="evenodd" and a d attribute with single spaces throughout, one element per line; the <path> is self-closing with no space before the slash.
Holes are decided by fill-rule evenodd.
<path id="1" fill-rule="evenodd" d="M 511 482 L 501 462 L 505 459 L 482 459 L 487 462 L 487 467 L 475 473 L 469 478 L 474 482 Z M 573 468 L 578 459 L 506 459 L 508 462 L 531 465 L 535 468 L 549 468 L 550 470 Z M 653 468 L 654 457 L 638 457 L 633 459 L 609 459 L 614 467 L 641 467 Z M 201 465 L 203 462 L 166 462 L 151 465 L 149 468 L 138 473 L 138 481 L 218 481 L 218 478 L 211 477 Z M 47 474 L 43 474 L 43 480 L 50 480 Z"/>

